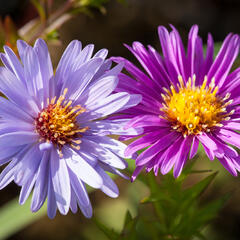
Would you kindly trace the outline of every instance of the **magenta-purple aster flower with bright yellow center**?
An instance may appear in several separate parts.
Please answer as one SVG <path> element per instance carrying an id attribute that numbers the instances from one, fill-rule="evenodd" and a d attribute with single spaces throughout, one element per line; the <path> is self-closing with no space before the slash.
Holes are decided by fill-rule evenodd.
<path id="1" fill-rule="evenodd" d="M 132 142 L 126 153 L 150 146 L 136 158 L 132 179 L 143 168 L 147 172 L 153 169 L 156 175 L 159 170 L 166 174 L 173 168 L 178 177 L 186 160 L 197 153 L 199 142 L 210 160 L 216 157 L 236 176 L 239 157 L 229 144 L 240 147 L 236 132 L 240 130 L 240 68 L 230 70 L 239 52 L 239 36 L 229 34 L 213 59 L 210 34 L 204 54 L 198 27 L 193 26 L 185 53 L 178 31 L 171 28 L 171 32 L 158 28 L 162 55 L 139 42 L 126 45 L 145 72 L 126 59 L 113 58 L 123 61 L 131 75 L 121 73 L 116 90 L 143 97 L 141 104 L 122 111 L 132 118 L 126 128 L 144 128 L 144 136 Z"/>

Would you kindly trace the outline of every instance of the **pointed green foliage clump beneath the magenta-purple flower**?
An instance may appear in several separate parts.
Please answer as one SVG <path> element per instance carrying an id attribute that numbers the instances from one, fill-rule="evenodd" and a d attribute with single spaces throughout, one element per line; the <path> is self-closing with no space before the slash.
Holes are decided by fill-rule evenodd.
<path id="1" fill-rule="evenodd" d="M 127 212 L 121 233 L 113 233 L 106 226 L 98 227 L 109 239 L 126 240 L 191 240 L 206 239 L 201 231 L 217 216 L 229 195 L 200 204 L 199 197 L 215 179 L 217 172 L 199 180 L 190 187 L 193 162 L 178 179 L 172 174 L 157 179 L 149 173 L 141 180 L 147 184 L 150 195 L 141 201 L 139 214 L 132 217 Z M 201 171 L 209 172 L 209 171 Z M 160 180 L 160 183 L 158 182 Z"/>

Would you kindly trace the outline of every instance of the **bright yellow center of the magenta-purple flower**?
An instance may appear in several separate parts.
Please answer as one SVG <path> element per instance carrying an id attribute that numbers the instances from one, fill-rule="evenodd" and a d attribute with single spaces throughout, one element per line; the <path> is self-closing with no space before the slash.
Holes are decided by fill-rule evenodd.
<path id="1" fill-rule="evenodd" d="M 164 113 L 163 118 L 172 123 L 172 128 L 182 132 L 183 136 L 209 132 L 213 127 L 221 127 L 221 121 L 229 120 L 226 107 L 232 103 L 228 100 L 230 94 L 224 98 L 217 95 L 218 87 L 212 79 L 207 86 L 207 77 L 201 86 L 195 86 L 195 75 L 189 78 L 186 85 L 181 76 L 178 77 L 177 89 L 174 86 L 170 90 L 165 89 L 166 94 L 162 94 Z"/>

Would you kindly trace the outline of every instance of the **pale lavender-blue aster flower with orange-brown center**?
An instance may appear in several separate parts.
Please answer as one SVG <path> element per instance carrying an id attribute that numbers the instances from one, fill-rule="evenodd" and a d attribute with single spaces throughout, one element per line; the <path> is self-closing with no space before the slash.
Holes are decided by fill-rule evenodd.
<path id="1" fill-rule="evenodd" d="M 58 209 L 67 214 L 77 206 L 86 217 L 92 207 L 85 184 L 110 197 L 118 188 L 106 173 L 124 175 L 126 146 L 108 134 L 139 134 L 125 130 L 127 119 L 107 120 L 141 101 L 140 95 L 112 93 L 122 64 L 111 68 L 107 50 L 93 54 L 94 45 L 82 49 L 72 41 L 56 73 L 45 42 L 34 47 L 17 42 L 20 60 L 5 47 L 1 59 L 0 165 L 10 162 L 0 175 L 0 189 L 11 181 L 21 186 L 23 204 L 31 191 L 31 210 L 48 200 L 48 216 Z M 104 120 L 105 119 L 105 120 Z"/>

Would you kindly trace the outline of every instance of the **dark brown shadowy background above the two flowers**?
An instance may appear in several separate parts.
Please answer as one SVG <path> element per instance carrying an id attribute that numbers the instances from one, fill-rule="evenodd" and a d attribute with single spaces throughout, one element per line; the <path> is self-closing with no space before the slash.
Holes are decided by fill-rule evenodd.
<path id="1" fill-rule="evenodd" d="M 240 32 L 239 0 L 127 0 L 127 5 L 111 1 L 107 14 L 94 18 L 79 16 L 68 22 L 61 37 L 64 42 L 74 38 L 84 44 L 94 42 L 106 47 L 111 55 L 131 56 L 122 43 L 141 41 L 159 48 L 157 27 L 173 24 L 183 38 L 193 24 L 206 40 L 211 32 L 215 41 L 222 41 L 229 32 Z M 68 33 L 68 34 L 65 34 Z"/>

